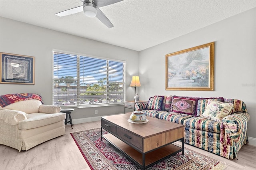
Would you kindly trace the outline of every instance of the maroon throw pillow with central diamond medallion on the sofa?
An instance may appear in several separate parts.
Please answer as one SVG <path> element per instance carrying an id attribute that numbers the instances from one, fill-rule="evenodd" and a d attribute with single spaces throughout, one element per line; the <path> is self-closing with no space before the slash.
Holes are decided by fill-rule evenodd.
<path id="1" fill-rule="evenodd" d="M 171 112 L 185 113 L 187 115 L 194 115 L 196 108 L 196 98 L 173 96 Z"/>

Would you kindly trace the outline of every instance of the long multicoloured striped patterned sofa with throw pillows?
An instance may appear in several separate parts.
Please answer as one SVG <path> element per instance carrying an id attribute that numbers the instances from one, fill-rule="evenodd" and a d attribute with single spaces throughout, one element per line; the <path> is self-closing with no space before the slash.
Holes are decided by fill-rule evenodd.
<path id="1" fill-rule="evenodd" d="M 149 117 L 184 125 L 186 144 L 228 159 L 237 158 L 240 148 L 248 143 L 250 116 L 241 100 L 154 96 L 135 107 Z"/>

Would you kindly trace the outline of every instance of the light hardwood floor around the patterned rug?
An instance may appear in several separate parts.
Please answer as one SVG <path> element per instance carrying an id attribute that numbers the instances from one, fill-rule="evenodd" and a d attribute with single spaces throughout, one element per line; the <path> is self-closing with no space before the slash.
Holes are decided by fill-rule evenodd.
<path id="1" fill-rule="evenodd" d="M 100 121 L 66 125 L 66 134 L 44 142 L 28 151 L 0 145 L 0 170 L 90 170 L 71 132 L 100 128 Z M 181 144 L 181 142 L 177 142 Z M 246 144 L 238 152 L 238 159 L 229 160 L 205 150 L 185 144 L 196 152 L 219 160 L 227 165 L 225 170 L 256 170 L 256 146 Z"/>

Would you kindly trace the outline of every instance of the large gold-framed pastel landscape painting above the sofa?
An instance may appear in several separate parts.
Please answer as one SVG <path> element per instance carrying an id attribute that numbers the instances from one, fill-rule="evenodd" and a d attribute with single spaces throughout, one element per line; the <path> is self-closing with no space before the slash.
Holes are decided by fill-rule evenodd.
<path id="1" fill-rule="evenodd" d="M 166 90 L 214 90 L 214 42 L 166 55 Z"/>

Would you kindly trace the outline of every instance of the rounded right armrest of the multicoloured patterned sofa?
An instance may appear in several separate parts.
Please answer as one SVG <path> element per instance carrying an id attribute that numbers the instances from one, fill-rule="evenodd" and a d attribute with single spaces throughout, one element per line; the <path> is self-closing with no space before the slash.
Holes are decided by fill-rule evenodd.
<path id="1" fill-rule="evenodd" d="M 224 117 L 220 124 L 220 143 L 233 145 L 233 142 L 245 142 L 249 120 L 250 115 L 247 112 L 237 112 Z"/>

